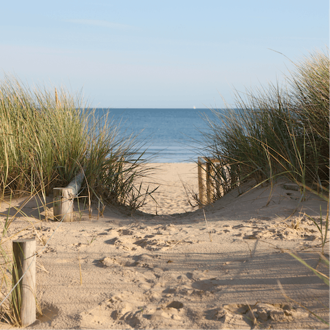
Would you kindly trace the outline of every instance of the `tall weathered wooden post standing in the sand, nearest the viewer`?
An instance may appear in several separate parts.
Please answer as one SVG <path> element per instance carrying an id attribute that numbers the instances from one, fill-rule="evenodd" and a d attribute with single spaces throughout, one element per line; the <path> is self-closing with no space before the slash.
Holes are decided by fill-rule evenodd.
<path id="1" fill-rule="evenodd" d="M 21 326 L 26 327 L 36 320 L 36 240 L 17 239 L 12 242 L 12 250 L 14 254 L 13 286 L 26 272 L 12 292 L 12 307 Z"/>

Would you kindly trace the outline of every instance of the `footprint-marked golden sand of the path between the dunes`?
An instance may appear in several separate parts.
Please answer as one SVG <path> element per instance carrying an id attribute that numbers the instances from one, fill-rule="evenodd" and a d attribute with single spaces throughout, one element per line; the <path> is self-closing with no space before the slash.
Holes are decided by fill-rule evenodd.
<path id="1" fill-rule="evenodd" d="M 157 215 L 152 200 L 146 213 L 107 207 L 104 217 L 85 212 L 60 225 L 45 212 L 39 221 L 35 200 L 16 214 L 8 234 L 32 223 L 15 237 L 36 237 L 39 251 L 43 316 L 29 329 L 327 329 L 302 306 L 329 322 L 329 287 L 287 253 L 329 275 L 305 215 L 319 217 L 320 206 L 326 214 L 325 201 L 299 203 L 283 180 L 272 190 L 241 186 L 204 208 L 206 222 L 203 210 L 190 212 L 180 181 L 197 189 L 195 164 L 157 166 Z M 23 203 L 12 201 L 10 214 Z M 0 212 L 4 223 L 8 204 Z"/>

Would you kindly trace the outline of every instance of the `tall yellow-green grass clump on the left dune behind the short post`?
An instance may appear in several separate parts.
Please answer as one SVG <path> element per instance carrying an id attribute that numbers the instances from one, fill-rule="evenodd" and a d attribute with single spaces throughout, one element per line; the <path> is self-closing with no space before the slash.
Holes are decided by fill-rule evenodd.
<path id="1" fill-rule="evenodd" d="M 135 184 L 148 170 L 137 157 L 142 142 L 120 136 L 118 124 L 107 116 L 96 118 L 80 94 L 31 89 L 5 76 L 0 122 L 1 197 L 26 192 L 45 197 L 82 168 L 89 195 L 102 203 L 136 209 L 149 194 Z"/>

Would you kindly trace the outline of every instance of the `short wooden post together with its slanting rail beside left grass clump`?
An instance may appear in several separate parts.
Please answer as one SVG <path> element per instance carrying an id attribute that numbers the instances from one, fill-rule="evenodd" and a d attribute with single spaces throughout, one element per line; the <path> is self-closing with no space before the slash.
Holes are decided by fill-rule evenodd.
<path id="1" fill-rule="evenodd" d="M 79 173 L 65 188 L 53 188 L 54 219 L 63 222 L 74 221 L 74 197 L 83 183 L 84 175 Z"/>

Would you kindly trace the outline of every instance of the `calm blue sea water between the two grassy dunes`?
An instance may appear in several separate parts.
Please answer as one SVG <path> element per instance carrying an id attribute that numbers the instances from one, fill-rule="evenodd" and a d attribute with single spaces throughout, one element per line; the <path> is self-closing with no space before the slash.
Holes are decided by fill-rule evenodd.
<path id="1" fill-rule="evenodd" d="M 208 125 L 203 113 L 213 118 L 209 109 L 96 109 L 99 116 L 109 113 L 121 121 L 122 134 L 138 133 L 146 143 L 146 157 L 153 162 L 195 162 L 200 154 L 202 133 Z"/>

